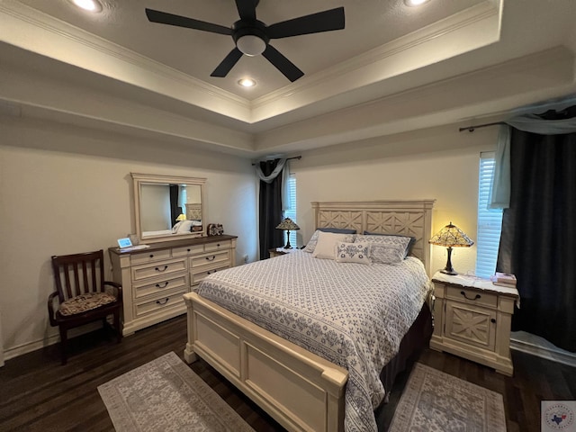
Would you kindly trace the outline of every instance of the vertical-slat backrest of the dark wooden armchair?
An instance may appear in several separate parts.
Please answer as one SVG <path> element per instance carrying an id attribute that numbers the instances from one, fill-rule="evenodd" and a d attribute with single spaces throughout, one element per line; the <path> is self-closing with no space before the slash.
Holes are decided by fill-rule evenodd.
<path id="1" fill-rule="evenodd" d="M 60 302 L 85 293 L 104 291 L 103 249 L 52 257 Z"/>

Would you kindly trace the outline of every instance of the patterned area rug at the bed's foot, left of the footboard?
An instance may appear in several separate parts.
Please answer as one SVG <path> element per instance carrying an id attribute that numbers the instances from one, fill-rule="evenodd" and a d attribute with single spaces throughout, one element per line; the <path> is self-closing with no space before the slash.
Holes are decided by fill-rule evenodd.
<path id="1" fill-rule="evenodd" d="M 171 352 L 98 387 L 116 432 L 254 432 Z"/>

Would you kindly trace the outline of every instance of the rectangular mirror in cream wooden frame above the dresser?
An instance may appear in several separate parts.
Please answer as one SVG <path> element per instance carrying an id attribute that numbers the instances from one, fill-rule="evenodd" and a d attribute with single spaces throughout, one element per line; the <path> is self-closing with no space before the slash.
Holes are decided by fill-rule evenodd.
<path id="1" fill-rule="evenodd" d="M 206 235 L 205 178 L 130 173 L 140 243 Z"/>

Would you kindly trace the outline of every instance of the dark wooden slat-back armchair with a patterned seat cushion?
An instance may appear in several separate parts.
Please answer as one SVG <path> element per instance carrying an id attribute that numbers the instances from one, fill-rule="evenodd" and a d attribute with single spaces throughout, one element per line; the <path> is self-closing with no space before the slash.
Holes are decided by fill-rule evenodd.
<path id="1" fill-rule="evenodd" d="M 52 257 L 52 270 L 56 290 L 48 298 L 49 320 L 60 331 L 62 365 L 67 363 L 67 330 L 113 315 L 113 327 L 118 342 L 122 338 L 120 313 L 122 287 L 115 282 L 104 281 L 103 250 L 82 254 Z M 111 288 L 106 288 L 109 285 Z M 55 299 L 58 306 L 55 308 Z"/>

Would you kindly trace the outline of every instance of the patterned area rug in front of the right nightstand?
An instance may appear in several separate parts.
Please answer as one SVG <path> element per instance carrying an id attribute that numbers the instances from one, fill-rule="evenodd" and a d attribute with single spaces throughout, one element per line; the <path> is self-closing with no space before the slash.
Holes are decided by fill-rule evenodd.
<path id="1" fill-rule="evenodd" d="M 389 432 L 506 432 L 502 395 L 416 363 Z"/>

